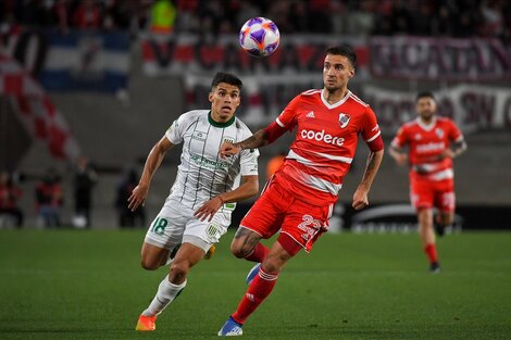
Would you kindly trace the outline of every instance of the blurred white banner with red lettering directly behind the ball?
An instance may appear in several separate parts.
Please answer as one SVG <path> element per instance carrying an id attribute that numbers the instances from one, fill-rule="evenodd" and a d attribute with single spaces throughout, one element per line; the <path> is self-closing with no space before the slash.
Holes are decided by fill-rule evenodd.
<path id="1" fill-rule="evenodd" d="M 252 58 L 240 49 L 235 35 L 222 35 L 217 39 L 197 35 L 161 37 L 148 34 L 140 37 L 144 72 L 149 76 L 203 74 L 219 70 L 239 76 L 321 75 L 326 48 L 339 43 L 350 45 L 357 51 L 357 78 L 366 78 L 369 60 L 363 38 L 286 35 L 282 37 L 275 53 L 266 58 Z"/>

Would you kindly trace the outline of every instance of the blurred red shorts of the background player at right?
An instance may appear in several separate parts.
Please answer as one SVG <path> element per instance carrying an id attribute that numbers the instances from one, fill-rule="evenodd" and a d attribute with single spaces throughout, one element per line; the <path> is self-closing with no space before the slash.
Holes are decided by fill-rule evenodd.
<path id="1" fill-rule="evenodd" d="M 452 179 L 412 179 L 410 200 L 416 210 L 435 206 L 441 212 L 453 212 L 456 205 L 454 181 Z"/>

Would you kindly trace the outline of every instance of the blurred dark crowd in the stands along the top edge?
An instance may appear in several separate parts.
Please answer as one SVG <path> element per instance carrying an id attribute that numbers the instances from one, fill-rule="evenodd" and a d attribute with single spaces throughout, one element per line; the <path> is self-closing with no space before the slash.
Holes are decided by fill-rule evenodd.
<path id="1" fill-rule="evenodd" d="M 176 33 L 237 33 L 267 16 L 282 33 L 499 37 L 511 41 L 506 0 L 2 0 L 1 29 L 13 26 L 129 30 L 151 28 L 159 3 Z"/>

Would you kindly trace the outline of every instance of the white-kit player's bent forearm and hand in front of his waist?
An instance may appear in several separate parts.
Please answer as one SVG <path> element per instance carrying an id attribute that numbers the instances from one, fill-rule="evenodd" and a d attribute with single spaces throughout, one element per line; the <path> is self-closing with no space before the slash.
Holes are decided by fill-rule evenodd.
<path id="1" fill-rule="evenodd" d="M 259 177 L 258 175 L 241 176 L 242 184 L 233 191 L 227 191 L 215 196 L 201 207 L 199 207 L 194 215 L 200 221 L 211 221 L 214 214 L 222 207 L 224 203 L 239 202 L 245 199 L 251 198 L 259 192 Z"/>

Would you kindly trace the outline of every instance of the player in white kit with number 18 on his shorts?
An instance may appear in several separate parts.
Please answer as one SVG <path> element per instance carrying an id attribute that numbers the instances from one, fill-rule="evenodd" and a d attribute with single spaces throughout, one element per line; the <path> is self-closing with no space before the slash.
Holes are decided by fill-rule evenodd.
<path id="1" fill-rule="evenodd" d="M 183 143 L 177 178 L 141 250 L 144 268 L 153 270 L 171 263 L 170 274 L 139 316 L 137 330 L 155 329 L 157 316 L 185 288 L 190 268 L 227 231 L 235 202 L 259 191 L 258 150 L 244 150 L 226 160 L 219 156 L 224 141 L 236 142 L 252 135 L 235 116 L 241 87 L 236 76 L 217 73 L 209 95 L 211 111 L 189 111 L 172 124 L 149 153 L 140 181 L 128 199 L 132 210 L 144 204 L 166 151 Z M 170 261 L 174 250 L 177 252 Z"/>

